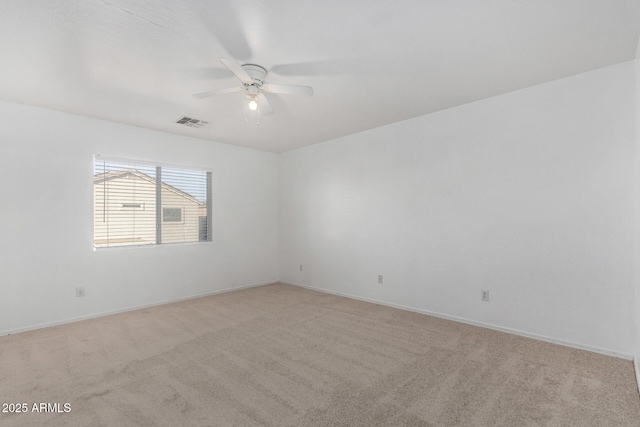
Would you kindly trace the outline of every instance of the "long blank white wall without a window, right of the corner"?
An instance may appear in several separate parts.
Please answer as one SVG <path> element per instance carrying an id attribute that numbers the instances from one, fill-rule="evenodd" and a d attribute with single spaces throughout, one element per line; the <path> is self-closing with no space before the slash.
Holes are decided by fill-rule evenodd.
<path id="1" fill-rule="evenodd" d="M 284 153 L 280 277 L 631 357 L 634 103 L 629 62 Z"/>

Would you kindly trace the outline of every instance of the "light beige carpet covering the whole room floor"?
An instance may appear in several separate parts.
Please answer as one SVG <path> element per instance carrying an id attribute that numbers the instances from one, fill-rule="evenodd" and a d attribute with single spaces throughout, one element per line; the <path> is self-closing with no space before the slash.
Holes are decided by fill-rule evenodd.
<path id="1" fill-rule="evenodd" d="M 2 426 L 640 426 L 630 361 L 282 284 L 0 337 L 0 402 L 29 407 Z"/>

